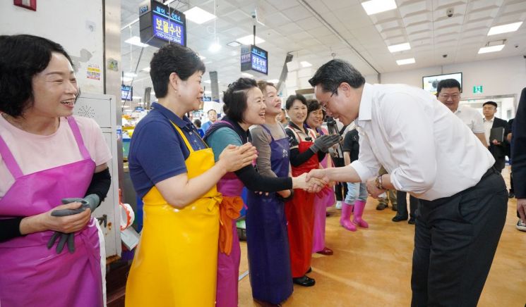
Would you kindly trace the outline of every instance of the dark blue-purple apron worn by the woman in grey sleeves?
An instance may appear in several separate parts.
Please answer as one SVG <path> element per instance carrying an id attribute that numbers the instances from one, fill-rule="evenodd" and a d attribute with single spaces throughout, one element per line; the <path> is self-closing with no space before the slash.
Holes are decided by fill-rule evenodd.
<path id="1" fill-rule="evenodd" d="M 270 131 L 261 125 L 268 134 Z M 272 134 L 270 134 L 272 137 Z M 289 140 L 270 142 L 270 164 L 277 177 L 289 177 Z M 250 283 L 254 299 L 281 303 L 292 294 L 289 238 L 285 203 L 275 193 L 248 194 L 246 244 L 249 254 Z"/>

